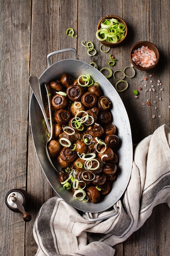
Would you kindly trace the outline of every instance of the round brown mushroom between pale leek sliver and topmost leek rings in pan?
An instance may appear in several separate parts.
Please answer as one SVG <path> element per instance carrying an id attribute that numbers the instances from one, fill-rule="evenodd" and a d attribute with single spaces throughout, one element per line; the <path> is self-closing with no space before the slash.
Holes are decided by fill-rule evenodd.
<path id="1" fill-rule="evenodd" d="M 80 101 L 82 98 L 82 87 L 80 85 L 69 85 L 66 94 L 71 101 Z"/>

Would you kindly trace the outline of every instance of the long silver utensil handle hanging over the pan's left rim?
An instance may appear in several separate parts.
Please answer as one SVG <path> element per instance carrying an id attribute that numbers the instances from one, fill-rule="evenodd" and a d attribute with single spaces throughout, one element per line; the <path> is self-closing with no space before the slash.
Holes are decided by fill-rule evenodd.
<path id="1" fill-rule="evenodd" d="M 45 122 L 46 122 L 46 127 L 49 131 L 49 134 L 51 135 L 51 128 L 50 128 L 50 125 L 49 125 L 49 121 L 46 117 L 46 112 L 45 112 L 45 109 L 44 109 L 44 104 L 43 104 L 43 101 L 42 101 L 42 95 L 41 95 L 41 88 L 40 88 L 40 81 L 38 79 L 37 76 L 33 75 L 33 76 L 29 76 L 29 85 L 31 87 L 31 90 L 33 91 L 33 94 L 35 95 L 35 98 L 40 106 L 40 109 L 42 111 L 42 115 L 45 119 Z"/>

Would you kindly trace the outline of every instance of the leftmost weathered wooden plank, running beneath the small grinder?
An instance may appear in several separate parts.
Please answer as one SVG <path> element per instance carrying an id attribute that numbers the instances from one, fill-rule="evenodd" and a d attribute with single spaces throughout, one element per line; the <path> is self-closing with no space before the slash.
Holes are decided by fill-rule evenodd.
<path id="1" fill-rule="evenodd" d="M 31 1 L 0 1 L 0 13 L 0 255 L 24 256 L 22 213 L 4 202 L 11 189 L 26 189 Z"/>

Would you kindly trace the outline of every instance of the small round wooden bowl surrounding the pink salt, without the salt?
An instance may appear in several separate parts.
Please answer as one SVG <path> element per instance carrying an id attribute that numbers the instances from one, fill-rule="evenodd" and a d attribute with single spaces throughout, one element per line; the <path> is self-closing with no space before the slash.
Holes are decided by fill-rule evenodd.
<path id="1" fill-rule="evenodd" d="M 155 54 L 157 56 L 157 60 L 155 61 L 154 65 L 152 65 L 150 67 L 141 67 L 140 65 L 137 65 L 134 61 L 132 61 L 132 54 L 134 53 L 133 51 L 137 50 L 138 48 L 141 48 L 142 46 L 148 46 L 148 48 L 150 50 L 153 50 L 155 52 Z M 134 65 L 134 67 L 136 67 L 138 70 L 150 70 L 150 69 L 154 68 L 159 61 L 159 50 L 154 44 L 152 44 L 150 42 L 147 42 L 147 41 L 138 42 L 135 45 L 133 45 L 133 47 L 130 49 L 130 61 Z"/>

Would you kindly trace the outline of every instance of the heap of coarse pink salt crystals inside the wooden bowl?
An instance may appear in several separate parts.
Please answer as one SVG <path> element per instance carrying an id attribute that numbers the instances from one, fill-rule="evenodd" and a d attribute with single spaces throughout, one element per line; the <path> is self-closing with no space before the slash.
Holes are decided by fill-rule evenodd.
<path id="1" fill-rule="evenodd" d="M 148 46 L 142 46 L 133 52 L 132 61 L 141 67 L 151 67 L 157 60 L 155 52 L 150 50 Z"/>

